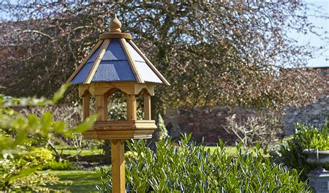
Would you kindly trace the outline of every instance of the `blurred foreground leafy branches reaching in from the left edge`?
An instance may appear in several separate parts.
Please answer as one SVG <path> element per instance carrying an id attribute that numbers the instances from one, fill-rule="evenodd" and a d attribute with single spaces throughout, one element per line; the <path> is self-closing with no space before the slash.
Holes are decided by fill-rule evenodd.
<path id="1" fill-rule="evenodd" d="M 81 133 L 86 131 L 96 121 L 96 115 L 89 117 L 85 122 L 78 124 L 75 128 L 65 128 L 65 122 L 53 121 L 51 112 L 45 112 L 42 117 L 34 114 L 27 116 L 16 112 L 11 106 L 47 106 L 58 101 L 58 97 L 62 96 L 62 90 L 68 85 L 62 85 L 60 90 L 54 94 L 52 100 L 46 99 L 14 99 L 0 95 L 0 153 L 2 155 L 13 153 L 17 149 L 17 145 L 23 145 L 33 140 L 47 141 L 51 133 L 60 133 L 67 137 L 73 137 L 72 133 Z M 22 102 L 24 101 L 24 102 Z"/>

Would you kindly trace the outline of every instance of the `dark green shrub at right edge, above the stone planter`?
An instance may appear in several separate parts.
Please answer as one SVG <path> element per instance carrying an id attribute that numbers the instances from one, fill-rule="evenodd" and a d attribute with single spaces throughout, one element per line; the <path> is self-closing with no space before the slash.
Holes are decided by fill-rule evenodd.
<path id="1" fill-rule="evenodd" d="M 307 155 L 303 153 L 303 150 L 329 149 L 328 122 L 323 125 L 323 128 L 300 123 L 296 123 L 295 128 L 294 134 L 286 137 L 282 144 L 275 146 L 270 155 L 276 162 L 301 172 L 301 179 L 305 181 L 306 174 L 315 166 L 307 163 Z"/>

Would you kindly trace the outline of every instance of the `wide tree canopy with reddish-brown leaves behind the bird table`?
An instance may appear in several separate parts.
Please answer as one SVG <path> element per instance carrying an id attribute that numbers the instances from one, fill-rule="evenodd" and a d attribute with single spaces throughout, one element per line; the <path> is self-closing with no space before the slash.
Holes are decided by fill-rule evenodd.
<path id="1" fill-rule="evenodd" d="M 157 106 L 303 104 L 321 94 L 321 78 L 303 68 L 318 49 L 287 33 L 316 33 L 310 8 L 303 1 L 2 2 L 10 19 L 0 24 L 0 85 L 14 96 L 50 96 L 116 13 L 171 83 L 157 87 Z M 70 92 L 67 101 L 76 97 Z"/>

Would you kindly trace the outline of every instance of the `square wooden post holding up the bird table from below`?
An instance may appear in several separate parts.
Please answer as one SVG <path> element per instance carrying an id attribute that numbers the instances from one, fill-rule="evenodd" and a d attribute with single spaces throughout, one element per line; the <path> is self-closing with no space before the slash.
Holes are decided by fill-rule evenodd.
<path id="1" fill-rule="evenodd" d="M 125 192 L 124 141 L 111 140 L 112 192 Z"/>

